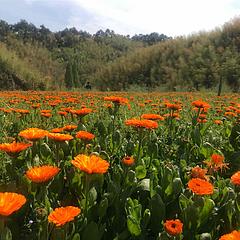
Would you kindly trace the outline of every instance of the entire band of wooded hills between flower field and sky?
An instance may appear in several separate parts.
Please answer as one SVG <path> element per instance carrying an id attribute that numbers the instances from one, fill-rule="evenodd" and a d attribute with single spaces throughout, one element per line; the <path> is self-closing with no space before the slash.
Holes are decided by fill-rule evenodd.
<path id="1" fill-rule="evenodd" d="M 240 18 L 171 38 L 0 21 L 1 89 L 240 90 Z"/>

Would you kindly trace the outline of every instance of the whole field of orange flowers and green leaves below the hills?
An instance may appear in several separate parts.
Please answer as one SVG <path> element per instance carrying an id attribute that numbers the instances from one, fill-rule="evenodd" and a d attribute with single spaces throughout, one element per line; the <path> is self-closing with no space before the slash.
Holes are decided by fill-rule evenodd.
<path id="1" fill-rule="evenodd" d="M 0 93 L 1 240 L 239 240 L 240 96 Z"/>

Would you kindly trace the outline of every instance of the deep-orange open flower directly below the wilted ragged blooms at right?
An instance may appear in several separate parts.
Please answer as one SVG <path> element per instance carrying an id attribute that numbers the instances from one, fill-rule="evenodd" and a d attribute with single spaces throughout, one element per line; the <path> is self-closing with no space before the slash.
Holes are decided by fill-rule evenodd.
<path id="1" fill-rule="evenodd" d="M 208 195 L 213 193 L 213 185 L 200 178 L 191 179 L 188 182 L 188 187 L 197 195 Z"/>

